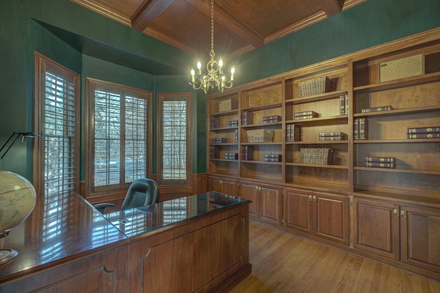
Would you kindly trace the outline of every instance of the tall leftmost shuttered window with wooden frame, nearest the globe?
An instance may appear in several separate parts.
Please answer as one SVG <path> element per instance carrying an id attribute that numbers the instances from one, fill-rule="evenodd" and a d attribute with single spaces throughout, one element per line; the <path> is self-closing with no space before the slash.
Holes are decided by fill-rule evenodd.
<path id="1" fill-rule="evenodd" d="M 36 172 L 45 200 L 76 190 L 78 184 L 79 74 L 35 54 Z"/>

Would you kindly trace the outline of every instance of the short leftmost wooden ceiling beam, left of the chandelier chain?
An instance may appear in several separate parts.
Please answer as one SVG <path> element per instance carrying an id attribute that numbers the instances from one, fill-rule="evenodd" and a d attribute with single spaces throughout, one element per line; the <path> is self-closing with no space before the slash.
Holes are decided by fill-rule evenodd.
<path id="1" fill-rule="evenodd" d="M 144 0 L 131 16 L 131 27 L 143 32 L 174 0 Z"/>

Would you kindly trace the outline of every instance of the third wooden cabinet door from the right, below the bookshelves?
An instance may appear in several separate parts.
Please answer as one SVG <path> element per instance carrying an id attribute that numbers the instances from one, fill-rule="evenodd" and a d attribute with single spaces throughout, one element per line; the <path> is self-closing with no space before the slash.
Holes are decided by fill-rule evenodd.
<path id="1" fill-rule="evenodd" d="M 349 243 L 349 198 L 345 195 L 314 193 L 314 231 L 316 235 Z"/>

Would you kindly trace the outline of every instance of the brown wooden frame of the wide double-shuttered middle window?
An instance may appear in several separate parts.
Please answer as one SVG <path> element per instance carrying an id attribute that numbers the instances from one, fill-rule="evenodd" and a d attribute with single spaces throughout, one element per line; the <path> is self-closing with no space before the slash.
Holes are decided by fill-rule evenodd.
<path id="1" fill-rule="evenodd" d="M 148 156 L 146 160 L 146 177 L 151 177 L 152 175 L 152 160 L 153 160 L 153 134 L 152 134 L 152 125 L 153 119 L 151 114 L 152 111 L 152 94 L 151 91 L 145 89 L 137 89 L 135 87 L 129 87 L 126 85 L 120 85 L 117 83 L 111 83 L 104 80 L 98 80 L 95 78 L 85 78 L 86 81 L 86 89 L 85 89 L 85 193 L 87 196 L 100 195 L 102 193 L 120 193 L 122 191 L 126 191 L 126 188 L 129 188 L 131 182 L 125 182 L 124 173 L 125 166 L 121 164 L 121 174 L 120 174 L 120 182 L 118 184 L 111 184 L 105 186 L 95 186 L 94 184 L 94 158 L 95 158 L 95 95 L 94 91 L 96 89 L 102 91 L 109 91 L 113 93 L 118 93 L 121 96 L 135 96 L 137 98 L 144 98 L 146 100 L 147 107 L 147 121 L 146 121 L 146 155 Z M 121 119 L 125 121 L 125 114 L 121 112 Z M 120 145 L 121 149 L 121 157 L 125 158 L 125 129 L 122 127 L 121 131 L 121 140 Z M 88 160 L 87 158 L 91 158 Z M 122 161 L 121 161 L 122 162 Z"/>

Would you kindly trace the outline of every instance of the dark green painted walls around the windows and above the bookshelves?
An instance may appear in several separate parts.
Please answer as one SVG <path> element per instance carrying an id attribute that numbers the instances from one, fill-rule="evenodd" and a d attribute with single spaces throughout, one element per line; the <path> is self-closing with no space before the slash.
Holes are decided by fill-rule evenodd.
<path id="1" fill-rule="evenodd" d="M 193 169 L 195 173 L 206 171 L 206 96 L 190 89 L 186 74 L 193 56 L 69 0 L 0 0 L 0 22 L 0 144 L 13 131 L 33 129 L 36 50 L 81 74 L 82 121 L 86 76 L 151 90 L 154 107 L 157 92 L 191 91 L 194 97 Z M 368 0 L 239 56 L 234 61 L 236 84 L 325 61 L 439 25 L 439 0 Z M 69 34 L 64 35 L 64 32 Z M 100 54 L 102 48 L 107 57 L 109 52 L 113 54 L 111 61 L 106 54 Z M 137 59 L 131 58 L 133 56 Z M 144 70 L 133 65 L 133 60 L 141 59 L 151 68 Z M 175 69 L 177 73 L 152 73 L 158 66 L 164 70 Z M 153 71 L 148 71 L 150 69 Z M 84 130 L 83 124 L 81 129 Z M 153 144 L 155 141 L 154 133 Z M 81 145 L 83 179 L 84 131 Z M 155 158 L 157 154 L 155 148 L 153 150 Z M 155 171 L 155 165 L 153 168 Z M 0 170 L 32 179 L 31 142 L 17 142 L 0 161 Z"/>

